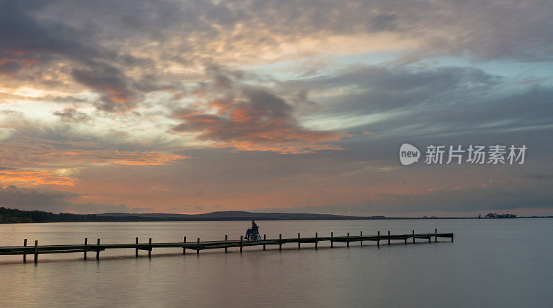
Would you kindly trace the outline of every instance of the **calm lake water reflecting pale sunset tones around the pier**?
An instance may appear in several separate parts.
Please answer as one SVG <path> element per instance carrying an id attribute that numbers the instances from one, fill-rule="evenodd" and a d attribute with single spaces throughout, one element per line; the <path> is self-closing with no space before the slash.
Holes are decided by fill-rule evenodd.
<path id="1" fill-rule="evenodd" d="M 455 242 L 398 241 L 194 251 L 134 249 L 0 256 L 1 307 L 551 307 L 553 220 L 259 221 L 268 238 L 455 233 Z M 0 224 L 0 246 L 240 238 L 248 222 Z M 92 257 L 92 258 L 91 258 Z"/>

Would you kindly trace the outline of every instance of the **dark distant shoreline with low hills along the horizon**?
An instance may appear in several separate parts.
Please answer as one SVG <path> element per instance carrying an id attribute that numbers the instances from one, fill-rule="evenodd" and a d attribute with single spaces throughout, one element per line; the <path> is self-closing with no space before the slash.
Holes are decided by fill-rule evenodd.
<path id="1" fill-rule="evenodd" d="M 45 223 L 45 222 L 175 222 L 175 221 L 248 221 L 248 220 L 430 220 L 430 219 L 476 219 L 506 220 L 519 218 L 553 218 L 553 216 L 521 216 L 516 218 L 478 217 L 388 217 L 388 216 L 344 216 L 312 213 L 251 213 L 244 211 L 220 211 L 205 214 L 171 213 L 103 213 L 71 214 L 44 211 L 22 211 L 0 207 L 0 223 Z"/>

